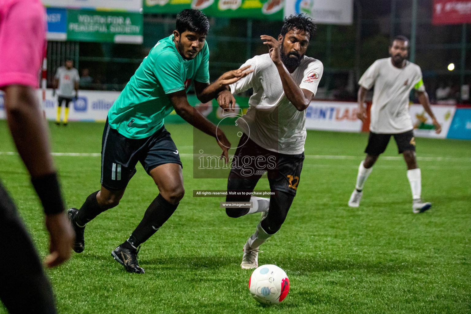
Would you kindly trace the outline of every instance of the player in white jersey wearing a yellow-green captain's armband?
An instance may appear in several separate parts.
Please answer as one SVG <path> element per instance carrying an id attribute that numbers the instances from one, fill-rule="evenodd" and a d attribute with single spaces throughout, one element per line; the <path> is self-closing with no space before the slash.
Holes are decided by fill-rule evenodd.
<path id="1" fill-rule="evenodd" d="M 415 159 L 415 140 L 412 120 L 409 114 L 409 94 L 415 89 L 419 101 L 432 118 L 435 132 L 441 126 L 433 115 L 429 97 L 422 81 L 422 71 L 417 64 L 406 60 L 409 42 L 404 36 L 396 36 L 391 43 L 390 58 L 376 60 L 360 78 L 358 84 L 358 118 L 365 122 L 366 91 L 374 85 L 371 106 L 370 136 L 366 146 L 366 158 L 360 163 L 357 185 L 350 196 L 349 206 L 358 207 L 363 195 L 363 185 L 372 171 L 378 156 L 386 150 L 391 135 L 398 145 L 399 153 L 404 155 L 407 164 L 407 178 L 412 189 L 412 210 L 421 213 L 430 208 L 429 202 L 420 198 L 422 183 L 421 172 Z"/>

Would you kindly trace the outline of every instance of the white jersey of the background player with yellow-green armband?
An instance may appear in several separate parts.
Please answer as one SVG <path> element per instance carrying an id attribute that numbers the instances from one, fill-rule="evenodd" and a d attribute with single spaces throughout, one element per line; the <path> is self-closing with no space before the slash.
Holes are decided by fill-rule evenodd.
<path id="1" fill-rule="evenodd" d="M 363 73 L 358 84 L 373 90 L 370 131 L 396 134 L 414 129 L 409 114 L 409 94 L 413 88 L 425 91 L 422 71 L 417 64 L 406 61 L 397 68 L 391 58 L 379 59 Z"/>

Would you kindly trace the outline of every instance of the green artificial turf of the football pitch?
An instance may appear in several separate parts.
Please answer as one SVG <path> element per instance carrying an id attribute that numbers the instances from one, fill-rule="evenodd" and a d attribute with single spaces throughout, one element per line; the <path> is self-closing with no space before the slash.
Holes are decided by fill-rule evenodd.
<path id="1" fill-rule="evenodd" d="M 100 152 L 102 123 L 50 129 L 53 152 Z M 378 160 L 361 206 L 352 209 L 347 201 L 367 134 L 308 131 L 297 196 L 259 255 L 260 265 L 286 271 L 290 292 L 280 305 L 266 307 L 250 296 L 251 271 L 239 266 L 260 215 L 229 218 L 219 209 L 224 199 L 193 197 L 194 189 L 225 189 L 227 180 L 193 179 L 191 126 L 167 129 L 182 154 L 186 196 L 143 244 L 139 262 L 146 274 L 126 273 L 110 254 L 158 194 L 138 164 L 118 207 L 87 225 L 85 251 L 47 271 L 60 313 L 471 312 L 471 141 L 416 139 L 422 199 L 433 204 L 417 215 L 392 139 L 384 156 L 394 158 Z M 0 138 L 0 152 L 15 151 L 5 121 Z M 55 162 L 67 206 L 80 207 L 99 189 L 100 157 L 57 156 Z M 0 177 L 44 258 L 42 209 L 17 154 L 0 154 Z M 268 189 L 267 180 L 257 189 Z M 14 252 L 8 254 L 14 265 Z M 0 313 L 6 313 L 1 306 Z"/>

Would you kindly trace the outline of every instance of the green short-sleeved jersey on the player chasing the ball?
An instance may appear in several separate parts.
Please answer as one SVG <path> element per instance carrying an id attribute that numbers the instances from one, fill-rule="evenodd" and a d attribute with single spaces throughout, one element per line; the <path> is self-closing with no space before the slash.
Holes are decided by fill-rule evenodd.
<path id="1" fill-rule="evenodd" d="M 193 81 L 209 83 L 209 48 L 192 60 L 183 59 L 173 35 L 160 40 L 108 111 L 111 128 L 128 138 L 145 138 L 163 125 L 173 106 L 166 94 L 190 89 Z"/>

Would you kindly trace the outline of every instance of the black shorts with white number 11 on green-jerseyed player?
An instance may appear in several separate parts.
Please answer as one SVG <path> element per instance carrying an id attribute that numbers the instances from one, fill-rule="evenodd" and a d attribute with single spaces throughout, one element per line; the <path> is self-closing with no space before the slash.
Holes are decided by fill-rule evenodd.
<path id="1" fill-rule="evenodd" d="M 112 129 L 106 119 L 101 142 L 101 185 L 108 190 L 124 189 L 142 164 L 147 174 L 164 163 L 178 163 L 180 155 L 164 126 L 152 136 L 132 139 Z"/>

